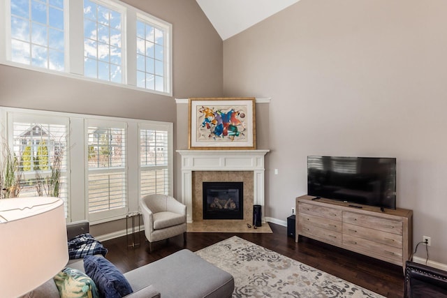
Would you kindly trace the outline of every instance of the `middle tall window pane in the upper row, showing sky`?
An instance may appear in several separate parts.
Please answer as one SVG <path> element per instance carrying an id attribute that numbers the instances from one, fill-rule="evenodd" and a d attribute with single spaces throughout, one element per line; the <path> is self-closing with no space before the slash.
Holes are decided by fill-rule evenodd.
<path id="1" fill-rule="evenodd" d="M 122 14 L 84 1 L 84 75 L 122 82 Z"/>

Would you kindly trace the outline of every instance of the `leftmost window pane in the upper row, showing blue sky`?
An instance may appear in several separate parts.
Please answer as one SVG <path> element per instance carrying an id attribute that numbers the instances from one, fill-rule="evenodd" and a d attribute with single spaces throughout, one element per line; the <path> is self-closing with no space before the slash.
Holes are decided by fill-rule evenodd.
<path id="1" fill-rule="evenodd" d="M 64 0 L 11 0 L 11 61 L 64 70 Z"/>

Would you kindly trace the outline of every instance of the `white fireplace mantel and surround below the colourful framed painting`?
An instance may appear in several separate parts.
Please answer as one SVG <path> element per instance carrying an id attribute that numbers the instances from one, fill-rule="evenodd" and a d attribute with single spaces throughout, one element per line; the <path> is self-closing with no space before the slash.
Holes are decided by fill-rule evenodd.
<path id="1" fill-rule="evenodd" d="M 270 150 L 177 150 L 182 156 L 182 202 L 186 205 L 186 221 L 192 218 L 192 172 L 253 171 L 254 204 L 264 209 L 264 158 Z M 264 211 L 263 221 L 264 221 Z"/>

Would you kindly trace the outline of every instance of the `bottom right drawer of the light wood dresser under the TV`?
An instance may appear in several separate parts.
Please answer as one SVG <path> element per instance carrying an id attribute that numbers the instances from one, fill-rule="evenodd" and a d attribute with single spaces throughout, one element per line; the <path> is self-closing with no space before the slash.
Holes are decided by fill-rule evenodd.
<path id="1" fill-rule="evenodd" d="M 364 251 L 367 255 L 378 255 L 382 258 L 402 262 L 402 248 L 383 245 L 346 234 L 343 235 L 343 246 L 356 251 Z"/>

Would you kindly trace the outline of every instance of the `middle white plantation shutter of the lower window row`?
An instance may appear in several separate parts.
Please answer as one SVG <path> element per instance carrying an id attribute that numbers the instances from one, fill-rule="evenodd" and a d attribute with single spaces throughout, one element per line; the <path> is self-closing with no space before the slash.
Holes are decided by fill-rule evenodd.
<path id="1" fill-rule="evenodd" d="M 126 123 L 89 121 L 87 128 L 89 218 L 120 216 L 127 209 Z"/>

